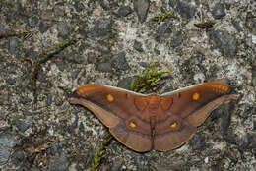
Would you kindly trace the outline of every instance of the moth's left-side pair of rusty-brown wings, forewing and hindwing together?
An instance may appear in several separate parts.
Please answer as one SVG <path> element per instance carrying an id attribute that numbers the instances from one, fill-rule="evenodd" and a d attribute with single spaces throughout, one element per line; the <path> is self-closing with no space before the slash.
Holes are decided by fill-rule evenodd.
<path id="1" fill-rule="evenodd" d="M 144 152 L 152 148 L 152 131 L 149 119 L 142 119 L 134 105 L 140 97 L 144 95 L 113 86 L 82 85 L 69 101 L 90 109 L 119 142 Z"/>

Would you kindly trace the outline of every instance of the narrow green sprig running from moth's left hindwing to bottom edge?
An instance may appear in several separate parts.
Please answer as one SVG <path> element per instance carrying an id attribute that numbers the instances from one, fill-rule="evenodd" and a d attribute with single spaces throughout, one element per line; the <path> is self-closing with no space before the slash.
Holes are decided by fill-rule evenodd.
<path id="1" fill-rule="evenodd" d="M 105 140 L 103 140 L 103 142 L 101 142 L 100 146 L 96 150 L 96 155 L 95 155 L 95 158 L 94 158 L 94 162 L 92 164 L 91 171 L 97 171 L 98 170 L 101 158 L 102 158 L 102 156 L 105 152 L 105 146 L 107 145 L 108 142 L 110 142 L 111 139 L 112 139 L 112 136 L 108 135 L 107 138 Z"/>

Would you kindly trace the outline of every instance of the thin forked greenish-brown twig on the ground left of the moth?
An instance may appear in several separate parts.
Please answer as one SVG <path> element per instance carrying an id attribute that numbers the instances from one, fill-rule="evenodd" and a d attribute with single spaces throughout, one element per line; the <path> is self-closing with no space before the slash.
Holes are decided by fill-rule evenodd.
<path id="1" fill-rule="evenodd" d="M 36 79 L 39 71 L 40 64 L 49 60 L 52 56 L 59 53 L 64 48 L 73 45 L 77 42 L 77 39 L 70 39 L 63 41 L 60 44 L 40 53 L 36 58 L 36 61 L 32 61 L 31 58 L 25 58 L 26 61 L 31 62 L 32 64 L 32 94 L 33 94 L 33 103 L 37 102 L 37 93 L 36 93 Z"/>

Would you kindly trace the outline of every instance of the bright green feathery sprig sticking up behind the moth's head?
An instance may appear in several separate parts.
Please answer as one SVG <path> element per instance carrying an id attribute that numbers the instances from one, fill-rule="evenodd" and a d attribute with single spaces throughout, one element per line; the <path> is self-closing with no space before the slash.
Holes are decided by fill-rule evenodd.
<path id="1" fill-rule="evenodd" d="M 158 61 L 151 63 L 143 72 L 142 76 L 137 76 L 137 84 L 135 84 L 135 79 L 133 77 L 131 82 L 131 89 L 140 93 L 148 92 L 150 90 L 156 92 L 160 85 L 163 85 L 163 83 L 160 83 L 160 81 L 164 75 L 172 72 L 172 69 L 161 71 L 162 68 L 158 67 L 158 64 Z"/>

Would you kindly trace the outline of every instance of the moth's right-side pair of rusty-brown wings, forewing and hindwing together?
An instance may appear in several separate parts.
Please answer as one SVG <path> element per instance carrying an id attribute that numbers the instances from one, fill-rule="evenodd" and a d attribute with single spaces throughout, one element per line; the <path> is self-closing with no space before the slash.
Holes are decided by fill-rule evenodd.
<path id="1" fill-rule="evenodd" d="M 155 126 L 154 149 L 167 151 L 188 142 L 213 110 L 237 96 L 229 85 L 210 82 L 161 95 Z"/>

